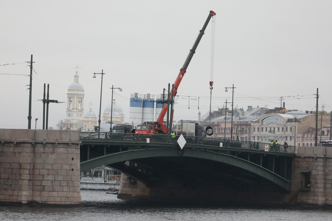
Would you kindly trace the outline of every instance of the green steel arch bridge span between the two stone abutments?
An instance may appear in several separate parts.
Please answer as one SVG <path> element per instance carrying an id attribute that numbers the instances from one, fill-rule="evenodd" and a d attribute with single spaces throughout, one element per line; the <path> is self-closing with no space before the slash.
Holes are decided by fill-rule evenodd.
<path id="1" fill-rule="evenodd" d="M 109 166 L 150 186 L 155 181 L 274 185 L 290 192 L 295 146 L 219 138 L 80 132 L 81 172 Z"/>

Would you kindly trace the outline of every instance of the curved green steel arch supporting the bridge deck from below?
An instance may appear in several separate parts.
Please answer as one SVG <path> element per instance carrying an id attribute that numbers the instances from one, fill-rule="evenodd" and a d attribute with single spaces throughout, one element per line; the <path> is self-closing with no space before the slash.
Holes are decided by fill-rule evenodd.
<path id="1" fill-rule="evenodd" d="M 264 167 L 261 167 L 255 163 L 244 160 L 242 158 L 238 158 L 233 155 L 218 153 L 215 151 L 209 151 L 208 149 L 200 148 L 197 148 L 195 150 L 191 150 L 188 148 L 184 150 L 179 150 L 179 148 L 155 147 L 126 150 L 83 161 L 81 162 L 80 170 L 81 172 L 83 172 L 101 165 L 109 165 L 129 176 L 134 177 L 138 181 L 149 185 L 147 179 L 137 176 L 137 174 L 135 174 L 135 172 L 132 170 L 125 171 L 121 165 L 124 165 L 123 162 L 125 161 L 155 157 L 191 157 L 231 165 L 233 167 L 251 172 L 252 174 L 255 174 L 265 180 L 268 180 L 269 182 L 275 184 L 285 192 L 290 192 L 290 182 L 288 180 Z"/>

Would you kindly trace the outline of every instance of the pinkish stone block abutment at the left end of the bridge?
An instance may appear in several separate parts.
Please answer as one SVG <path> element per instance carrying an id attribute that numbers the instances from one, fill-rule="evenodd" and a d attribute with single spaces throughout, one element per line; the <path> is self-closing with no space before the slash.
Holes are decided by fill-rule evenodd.
<path id="1" fill-rule="evenodd" d="M 0 129 L 0 203 L 81 204 L 79 143 L 79 131 Z"/>

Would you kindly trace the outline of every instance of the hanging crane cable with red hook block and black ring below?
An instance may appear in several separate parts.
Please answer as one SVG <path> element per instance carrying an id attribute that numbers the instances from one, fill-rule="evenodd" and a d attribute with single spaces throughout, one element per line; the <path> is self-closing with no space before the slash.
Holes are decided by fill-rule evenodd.
<path id="1" fill-rule="evenodd" d="M 211 29 L 211 61 L 210 61 L 210 112 L 209 112 L 209 126 L 205 129 L 207 135 L 213 134 L 213 128 L 211 127 L 211 101 L 212 101 L 212 89 L 213 89 L 213 67 L 214 67 L 214 39 L 215 39 L 215 16 L 212 19 Z M 209 131 L 209 132 L 208 132 Z"/>

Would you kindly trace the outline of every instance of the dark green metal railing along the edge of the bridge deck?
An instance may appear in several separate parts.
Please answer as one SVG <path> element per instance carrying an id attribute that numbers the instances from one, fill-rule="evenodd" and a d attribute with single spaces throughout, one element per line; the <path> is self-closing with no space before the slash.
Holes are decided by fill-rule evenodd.
<path id="1" fill-rule="evenodd" d="M 165 134 L 132 134 L 132 133 L 109 133 L 109 132 L 80 132 L 80 140 L 94 140 L 94 141 L 125 141 L 125 142 L 147 142 L 149 138 L 150 143 L 173 143 L 177 144 L 178 135 Z M 274 145 L 270 143 L 262 143 L 255 141 L 238 141 L 223 138 L 210 137 L 195 137 L 183 136 L 186 144 L 199 144 L 213 147 L 231 147 L 242 149 L 256 149 L 261 151 L 273 151 L 281 153 L 295 153 L 295 146 L 290 145 Z"/>

